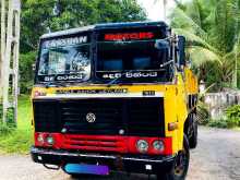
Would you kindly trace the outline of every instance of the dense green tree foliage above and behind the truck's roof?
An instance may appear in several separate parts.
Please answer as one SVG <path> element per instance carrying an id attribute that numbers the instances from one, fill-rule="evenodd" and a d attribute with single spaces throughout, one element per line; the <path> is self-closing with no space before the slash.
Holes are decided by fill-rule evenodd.
<path id="1" fill-rule="evenodd" d="M 39 36 L 49 31 L 142 20 L 146 14 L 136 0 L 61 0 L 59 4 L 53 0 L 23 0 L 21 51 L 36 50 Z"/>

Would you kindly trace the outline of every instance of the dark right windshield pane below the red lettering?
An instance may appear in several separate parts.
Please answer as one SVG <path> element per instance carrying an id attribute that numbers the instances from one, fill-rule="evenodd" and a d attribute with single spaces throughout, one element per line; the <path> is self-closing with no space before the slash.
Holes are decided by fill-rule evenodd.
<path id="1" fill-rule="evenodd" d="M 160 64 L 169 61 L 169 45 L 156 48 L 156 40 L 98 43 L 97 76 L 134 81 L 166 77 Z"/>

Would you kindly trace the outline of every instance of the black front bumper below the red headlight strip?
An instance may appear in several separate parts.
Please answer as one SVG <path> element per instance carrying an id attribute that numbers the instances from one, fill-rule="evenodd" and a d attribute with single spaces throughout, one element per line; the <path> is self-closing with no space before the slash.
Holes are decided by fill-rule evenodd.
<path id="1" fill-rule="evenodd" d="M 170 171 L 176 156 L 113 155 L 93 153 L 71 153 L 68 151 L 32 147 L 32 159 L 44 165 L 65 164 L 106 165 L 110 170 L 136 173 L 159 173 Z"/>

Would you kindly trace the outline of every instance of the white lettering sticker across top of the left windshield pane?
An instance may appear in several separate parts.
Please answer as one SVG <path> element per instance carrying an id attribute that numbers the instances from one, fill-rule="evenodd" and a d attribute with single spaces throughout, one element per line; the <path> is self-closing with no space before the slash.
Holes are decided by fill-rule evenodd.
<path id="1" fill-rule="evenodd" d="M 73 46 L 87 43 L 87 36 L 62 38 L 62 39 L 52 39 L 44 41 L 44 48 L 57 48 L 62 46 Z"/>

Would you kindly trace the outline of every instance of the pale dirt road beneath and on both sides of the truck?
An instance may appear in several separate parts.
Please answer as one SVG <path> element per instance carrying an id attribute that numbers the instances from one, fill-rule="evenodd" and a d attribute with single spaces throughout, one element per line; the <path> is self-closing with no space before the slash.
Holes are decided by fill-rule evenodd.
<path id="1" fill-rule="evenodd" d="M 148 177 L 113 173 L 111 177 L 83 180 L 148 180 Z M 151 179 L 155 179 L 151 177 Z M 61 171 L 46 170 L 29 156 L 0 156 L 0 180 L 71 180 Z M 187 180 L 240 180 L 240 132 L 200 129 L 199 146 L 191 152 Z"/>

